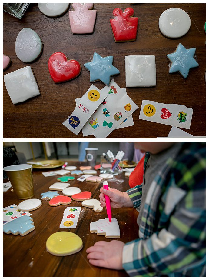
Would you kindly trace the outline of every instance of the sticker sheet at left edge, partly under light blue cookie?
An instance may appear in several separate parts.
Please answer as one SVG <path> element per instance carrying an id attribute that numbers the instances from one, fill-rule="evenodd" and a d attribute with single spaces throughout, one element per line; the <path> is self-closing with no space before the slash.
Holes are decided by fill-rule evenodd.
<path id="1" fill-rule="evenodd" d="M 20 218 L 24 215 L 31 216 L 29 212 L 21 211 L 16 204 L 3 208 L 3 224 L 9 223 L 17 218 Z"/>

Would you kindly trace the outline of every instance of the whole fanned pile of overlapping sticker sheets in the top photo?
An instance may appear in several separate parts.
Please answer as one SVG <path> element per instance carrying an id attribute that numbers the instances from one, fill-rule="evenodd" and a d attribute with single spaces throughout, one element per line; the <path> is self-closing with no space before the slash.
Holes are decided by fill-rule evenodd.
<path id="1" fill-rule="evenodd" d="M 113 80 L 101 90 L 91 85 L 82 98 L 75 99 L 76 107 L 63 125 L 78 135 L 93 134 L 106 138 L 114 129 L 134 125 L 131 114 L 138 108 Z"/>

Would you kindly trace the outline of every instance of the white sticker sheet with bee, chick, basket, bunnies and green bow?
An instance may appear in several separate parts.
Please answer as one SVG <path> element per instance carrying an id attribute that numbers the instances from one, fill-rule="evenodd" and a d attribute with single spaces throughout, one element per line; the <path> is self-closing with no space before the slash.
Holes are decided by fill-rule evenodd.
<path id="1" fill-rule="evenodd" d="M 121 89 L 113 80 L 101 92 L 105 92 L 108 98 L 85 125 L 96 138 L 107 137 L 138 108 L 127 95 L 126 89 Z"/>

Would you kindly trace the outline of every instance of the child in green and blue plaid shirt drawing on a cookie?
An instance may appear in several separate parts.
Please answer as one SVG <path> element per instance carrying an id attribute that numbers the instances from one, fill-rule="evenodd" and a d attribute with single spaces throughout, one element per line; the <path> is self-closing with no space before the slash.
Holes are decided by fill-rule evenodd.
<path id="1" fill-rule="evenodd" d="M 99 241 L 87 249 L 92 265 L 130 276 L 205 276 L 206 149 L 201 142 L 136 142 L 147 151 L 142 185 L 100 189 L 112 208 L 135 207 L 139 238 Z"/>

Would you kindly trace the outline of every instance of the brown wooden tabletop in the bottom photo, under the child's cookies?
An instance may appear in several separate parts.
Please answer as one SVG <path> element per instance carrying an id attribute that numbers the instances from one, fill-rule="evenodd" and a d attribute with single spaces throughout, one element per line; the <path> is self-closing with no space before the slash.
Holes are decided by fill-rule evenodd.
<path id="1" fill-rule="evenodd" d="M 69 165 L 85 165 L 78 162 L 69 162 Z M 59 168 L 58 168 L 59 169 Z M 35 198 L 41 199 L 40 194 L 47 192 L 50 185 L 57 182 L 57 176 L 44 177 L 41 172 L 33 170 L 33 181 Z M 99 172 L 98 172 L 99 174 Z M 79 176 L 75 176 L 78 178 Z M 128 178 L 117 175 L 116 178 L 124 179 L 121 185 L 110 182 L 112 188 L 125 191 L 129 188 Z M 99 189 L 102 183 L 80 182 L 76 179 L 70 182 L 71 186 L 81 188 L 81 191 L 91 191 L 92 198 L 99 199 Z M 14 192 L 9 189 L 3 195 L 3 206 L 7 207 L 12 204 L 18 205 L 21 200 L 15 196 Z M 59 194 L 62 194 L 59 192 Z M 35 230 L 25 236 L 12 235 L 3 233 L 4 240 L 4 276 L 91 276 L 91 277 L 107 277 L 107 276 L 128 276 L 124 270 L 110 270 L 106 268 L 98 268 L 89 264 L 87 260 L 86 249 L 95 242 L 100 240 L 111 241 L 105 236 L 98 236 L 96 233 L 90 233 L 89 225 L 92 221 L 107 218 L 106 209 L 103 212 L 94 212 L 92 208 L 81 207 L 77 228 L 63 229 L 59 228 L 63 217 L 63 212 L 68 206 L 81 206 L 81 202 L 72 201 L 70 205 L 59 205 L 51 207 L 48 200 L 42 200 L 42 206 L 37 210 L 31 211 Z M 119 222 L 121 238 L 123 242 L 129 242 L 138 238 L 138 225 L 136 223 L 138 212 L 134 208 L 112 209 L 112 216 Z M 74 255 L 58 257 L 51 255 L 46 251 L 46 240 L 54 232 L 71 231 L 83 240 L 84 247 Z"/>

